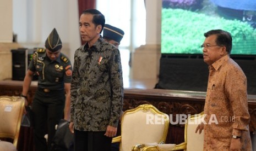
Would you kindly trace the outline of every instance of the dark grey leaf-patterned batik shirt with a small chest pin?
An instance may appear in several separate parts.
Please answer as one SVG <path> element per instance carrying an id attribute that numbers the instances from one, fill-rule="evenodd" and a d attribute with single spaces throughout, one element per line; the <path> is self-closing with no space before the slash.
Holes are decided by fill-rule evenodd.
<path id="1" fill-rule="evenodd" d="M 117 127 L 123 106 L 123 78 L 119 50 L 100 37 L 75 51 L 71 81 L 74 129 L 106 131 Z"/>

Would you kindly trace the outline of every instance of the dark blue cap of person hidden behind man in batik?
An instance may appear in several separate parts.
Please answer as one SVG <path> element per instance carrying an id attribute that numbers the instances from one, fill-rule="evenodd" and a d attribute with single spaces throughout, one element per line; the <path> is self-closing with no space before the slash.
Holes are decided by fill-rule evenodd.
<path id="1" fill-rule="evenodd" d="M 123 38 L 123 35 L 124 32 L 117 27 L 105 24 L 103 28 L 103 38 L 107 37 L 108 39 L 112 39 L 120 43 Z"/>

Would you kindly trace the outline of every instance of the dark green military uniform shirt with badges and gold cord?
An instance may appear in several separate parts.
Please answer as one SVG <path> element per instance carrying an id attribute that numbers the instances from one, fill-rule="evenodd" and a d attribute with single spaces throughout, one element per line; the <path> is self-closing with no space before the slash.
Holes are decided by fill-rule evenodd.
<path id="1" fill-rule="evenodd" d="M 29 63 L 29 69 L 39 75 L 38 88 L 50 90 L 64 90 L 64 83 L 70 83 L 72 66 L 68 57 L 60 54 L 55 61 L 51 61 L 46 51 L 36 52 Z"/>

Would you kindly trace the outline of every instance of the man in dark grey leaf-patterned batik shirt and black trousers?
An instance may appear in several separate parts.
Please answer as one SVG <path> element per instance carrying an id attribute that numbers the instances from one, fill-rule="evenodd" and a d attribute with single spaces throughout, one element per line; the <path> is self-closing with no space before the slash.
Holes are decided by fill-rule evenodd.
<path id="1" fill-rule="evenodd" d="M 71 118 L 74 150 L 111 150 L 112 137 L 123 105 L 123 78 L 119 50 L 100 33 L 105 17 L 84 10 L 79 26 L 84 42 L 75 51 L 71 81 Z"/>

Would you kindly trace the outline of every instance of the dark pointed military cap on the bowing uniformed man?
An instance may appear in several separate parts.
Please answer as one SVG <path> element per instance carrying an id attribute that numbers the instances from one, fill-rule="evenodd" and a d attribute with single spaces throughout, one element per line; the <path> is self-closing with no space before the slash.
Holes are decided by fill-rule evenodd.
<path id="1" fill-rule="evenodd" d="M 59 38 L 59 35 L 55 28 L 53 28 L 52 32 L 45 40 L 45 48 L 49 49 L 52 52 L 58 51 L 62 48 L 61 38 Z"/>

